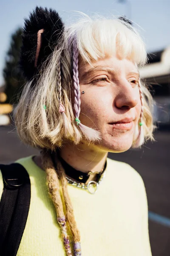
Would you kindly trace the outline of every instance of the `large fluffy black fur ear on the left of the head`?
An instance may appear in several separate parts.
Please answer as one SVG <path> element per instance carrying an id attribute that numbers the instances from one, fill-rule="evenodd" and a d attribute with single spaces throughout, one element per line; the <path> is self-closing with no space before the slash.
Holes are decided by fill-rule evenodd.
<path id="1" fill-rule="evenodd" d="M 37 33 L 40 29 L 43 29 L 43 32 L 40 34 L 40 51 L 36 59 Z M 20 67 L 28 80 L 38 74 L 42 63 L 47 60 L 61 40 L 63 32 L 64 24 L 62 19 L 59 17 L 58 12 L 52 9 L 36 7 L 30 14 L 29 19 L 25 20 Z"/>

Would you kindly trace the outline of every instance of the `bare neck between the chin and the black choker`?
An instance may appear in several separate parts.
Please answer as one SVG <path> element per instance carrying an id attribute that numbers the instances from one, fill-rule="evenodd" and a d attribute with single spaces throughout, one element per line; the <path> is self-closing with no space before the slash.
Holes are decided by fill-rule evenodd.
<path id="1" fill-rule="evenodd" d="M 65 144 L 60 150 L 60 156 L 74 169 L 81 172 L 101 172 L 105 165 L 108 152 L 99 151 L 95 145 L 81 142 Z M 91 175 L 87 182 L 94 180 L 96 175 Z"/>

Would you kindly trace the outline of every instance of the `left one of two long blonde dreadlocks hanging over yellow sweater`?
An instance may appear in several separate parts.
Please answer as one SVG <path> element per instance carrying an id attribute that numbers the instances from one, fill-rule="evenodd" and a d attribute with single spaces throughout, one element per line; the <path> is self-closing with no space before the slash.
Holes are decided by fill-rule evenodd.
<path id="1" fill-rule="evenodd" d="M 59 178 L 57 176 L 57 172 L 54 169 L 51 157 L 48 153 L 45 152 L 45 150 L 41 151 L 41 160 L 42 166 L 47 174 L 49 194 L 51 195 L 52 201 L 57 212 L 57 221 L 60 225 L 61 237 L 64 244 L 65 252 L 67 256 L 72 256 L 70 241 L 67 233 L 64 209 L 59 191 Z"/>

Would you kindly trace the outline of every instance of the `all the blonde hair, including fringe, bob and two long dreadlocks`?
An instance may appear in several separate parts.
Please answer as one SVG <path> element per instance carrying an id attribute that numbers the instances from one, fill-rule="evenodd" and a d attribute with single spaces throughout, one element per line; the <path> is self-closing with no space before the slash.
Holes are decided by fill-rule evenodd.
<path id="1" fill-rule="evenodd" d="M 49 193 L 56 208 L 62 241 L 68 256 L 72 253 L 67 228 L 70 229 L 74 240 L 75 256 L 81 255 L 80 235 L 68 195 L 64 169 L 57 159 L 55 170 L 51 154 L 47 149 L 53 151 L 61 147 L 65 140 L 72 140 L 77 144 L 84 135 L 74 121 L 71 105 L 73 91 L 71 46 L 75 41 L 79 59 L 89 64 L 106 55 L 114 55 L 117 51 L 122 57 L 136 62 L 138 67 L 143 66 L 147 59 L 144 43 L 129 23 L 117 18 L 106 19 L 99 16 L 90 18 L 85 15 L 77 23 L 65 29 L 61 43 L 49 56 L 48 61 L 42 65 L 38 77 L 28 81 L 23 89 L 14 113 L 17 132 L 24 143 L 43 148 L 42 166 L 47 174 Z M 143 122 L 143 129 L 140 131 L 143 134 L 140 134 L 139 140 L 138 125 L 134 134 L 133 147 L 142 145 L 144 140 L 153 139 L 152 97 L 144 84 L 140 83 L 139 90 Z M 61 102 L 65 107 L 63 115 L 59 112 Z M 44 105 L 46 109 L 43 108 Z M 96 132 L 93 128 L 90 129 L 91 132 Z"/>

